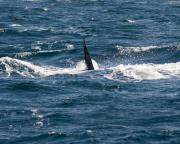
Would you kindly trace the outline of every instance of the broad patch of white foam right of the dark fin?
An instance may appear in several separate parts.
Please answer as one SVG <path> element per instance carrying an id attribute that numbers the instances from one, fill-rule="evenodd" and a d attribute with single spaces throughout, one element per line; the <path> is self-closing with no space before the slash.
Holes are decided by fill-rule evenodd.
<path id="1" fill-rule="evenodd" d="M 111 80 L 118 80 L 121 75 L 135 80 L 157 80 L 180 76 L 180 62 L 165 64 L 135 64 L 109 68 L 112 73 L 104 75 Z"/>

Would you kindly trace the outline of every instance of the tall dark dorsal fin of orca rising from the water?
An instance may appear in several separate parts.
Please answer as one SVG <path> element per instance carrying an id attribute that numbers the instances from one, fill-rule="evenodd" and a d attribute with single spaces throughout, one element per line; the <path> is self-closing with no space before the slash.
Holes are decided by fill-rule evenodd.
<path id="1" fill-rule="evenodd" d="M 83 48 L 84 48 L 84 60 L 87 67 L 87 70 L 94 70 L 94 66 L 91 60 L 90 53 L 88 51 L 88 48 L 86 46 L 85 38 L 83 38 Z"/>

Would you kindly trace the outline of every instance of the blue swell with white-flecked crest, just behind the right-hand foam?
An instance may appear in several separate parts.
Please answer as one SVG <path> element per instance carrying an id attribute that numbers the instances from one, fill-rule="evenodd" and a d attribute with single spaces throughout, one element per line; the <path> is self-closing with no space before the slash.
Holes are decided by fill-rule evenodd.
<path id="1" fill-rule="evenodd" d="M 180 61 L 180 45 L 160 45 L 160 46 L 115 46 L 118 53 L 116 57 L 123 58 L 130 64 L 143 63 L 174 63 Z"/>

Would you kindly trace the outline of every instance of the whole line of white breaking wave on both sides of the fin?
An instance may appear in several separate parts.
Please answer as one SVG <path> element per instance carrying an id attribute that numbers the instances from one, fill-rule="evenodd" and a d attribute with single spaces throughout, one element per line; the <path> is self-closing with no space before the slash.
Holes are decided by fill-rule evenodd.
<path id="1" fill-rule="evenodd" d="M 127 77 L 135 80 L 157 80 L 168 79 L 180 76 L 180 62 L 165 63 L 165 64 L 134 64 L 124 65 L 120 64 L 116 67 L 106 69 L 99 69 L 95 60 L 93 65 L 95 70 L 107 71 L 105 78 L 111 80 L 118 80 L 119 78 Z M 18 74 L 24 77 L 46 77 L 57 74 L 81 74 L 86 72 L 86 65 L 84 61 L 80 61 L 72 68 L 59 68 L 53 66 L 40 66 L 27 61 L 2 57 L 0 58 L 0 73 L 5 73 L 8 76 Z"/>

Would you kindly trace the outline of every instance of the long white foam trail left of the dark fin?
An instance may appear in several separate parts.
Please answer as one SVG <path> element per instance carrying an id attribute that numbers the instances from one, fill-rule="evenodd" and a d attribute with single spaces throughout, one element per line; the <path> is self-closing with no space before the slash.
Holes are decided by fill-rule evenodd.
<path id="1" fill-rule="evenodd" d="M 86 70 L 84 61 L 79 62 L 77 66 L 73 68 L 59 68 L 52 66 L 39 66 L 15 58 L 2 57 L 0 58 L 0 64 L 4 65 L 5 72 L 8 75 L 11 75 L 11 73 L 14 72 L 24 77 L 45 77 L 56 74 L 79 74 Z"/>

